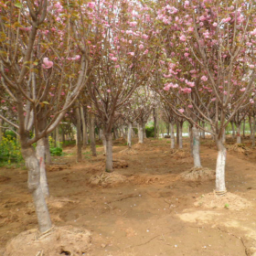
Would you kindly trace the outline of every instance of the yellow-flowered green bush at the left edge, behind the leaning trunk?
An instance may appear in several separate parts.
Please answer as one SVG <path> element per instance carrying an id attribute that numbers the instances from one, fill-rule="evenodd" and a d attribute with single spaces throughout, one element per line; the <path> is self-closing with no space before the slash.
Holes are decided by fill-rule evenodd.
<path id="1" fill-rule="evenodd" d="M 19 163 L 23 161 L 20 144 L 16 140 L 16 134 L 9 131 L 5 132 L 0 143 L 0 162 L 2 163 Z"/>

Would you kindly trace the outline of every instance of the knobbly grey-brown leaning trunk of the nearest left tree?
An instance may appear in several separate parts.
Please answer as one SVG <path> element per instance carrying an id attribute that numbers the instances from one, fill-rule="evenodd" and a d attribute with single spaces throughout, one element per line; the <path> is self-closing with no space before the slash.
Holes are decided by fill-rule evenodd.
<path id="1" fill-rule="evenodd" d="M 40 186 L 40 167 L 33 146 L 22 147 L 22 155 L 28 169 L 27 187 L 32 193 L 40 232 L 51 229 L 52 224 L 48 213 L 48 207 L 44 193 Z"/>

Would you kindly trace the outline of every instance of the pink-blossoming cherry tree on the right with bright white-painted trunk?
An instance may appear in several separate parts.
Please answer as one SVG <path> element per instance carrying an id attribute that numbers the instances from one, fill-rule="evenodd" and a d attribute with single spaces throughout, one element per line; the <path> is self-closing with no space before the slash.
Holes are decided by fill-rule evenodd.
<path id="1" fill-rule="evenodd" d="M 210 133 L 215 135 L 219 152 L 216 191 L 225 193 L 223 132 L 240 109 L 254 103 L 251 93 L 255 78 L 255 4 L 215 0 L 176 2 L 164 5 L 157 13 L 157 20 L 164 35 L 162 61 L 168 65 L 168 69 L 162 69 L 163 89 L 176 91 L 176 95 L 177 91 L 186 93 L 187 97 L 179 97 L 176 111 L 181 115 L 193 112 L 197 119 L 211 125 Z M 198 91 L 208 94 L 209 100 L 202 100 L 205 97 L 201 98 Z M 239 97 L 234 97 L 237 93 Z M 189 122 L 198 125 L 192 118 Z"/>

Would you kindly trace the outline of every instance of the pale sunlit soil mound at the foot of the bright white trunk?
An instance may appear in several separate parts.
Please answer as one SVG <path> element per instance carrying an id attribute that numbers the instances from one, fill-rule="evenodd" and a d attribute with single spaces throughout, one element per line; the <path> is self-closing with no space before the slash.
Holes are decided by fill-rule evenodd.
<path id="1" fill-rule="evenodd" d="M 215 193 L 209 193 L 197 197 L 197 201 L 194 203 L 196 207 L 203 208 L 227 208 L 230 210 L 240 210 L 244 208 L 250 208 L 251 202 L 238 195 L 230 192 L 224 196 L 217 196 Z"/>

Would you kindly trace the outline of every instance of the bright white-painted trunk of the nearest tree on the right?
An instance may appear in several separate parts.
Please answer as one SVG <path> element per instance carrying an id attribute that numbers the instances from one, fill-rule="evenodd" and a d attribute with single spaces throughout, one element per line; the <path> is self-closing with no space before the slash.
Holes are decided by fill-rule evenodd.
<path id="1" fill-rule="evenodd" d="M 222 138 L 216 139 L 218 147 L 218 158 L 216 165 L 216 192 L 225 193 L 225 165 L 226 165 L 226 154 L 227 150 L 222 144 Z"/>

